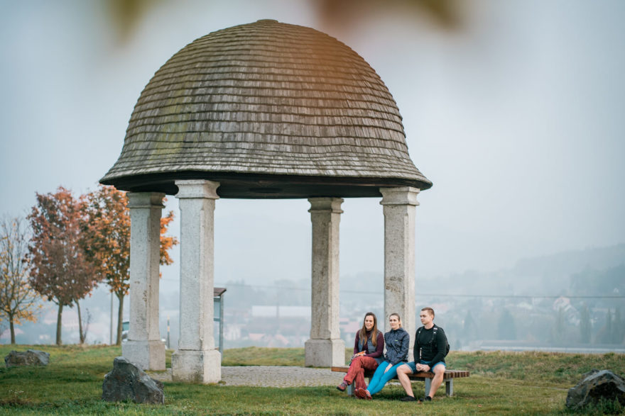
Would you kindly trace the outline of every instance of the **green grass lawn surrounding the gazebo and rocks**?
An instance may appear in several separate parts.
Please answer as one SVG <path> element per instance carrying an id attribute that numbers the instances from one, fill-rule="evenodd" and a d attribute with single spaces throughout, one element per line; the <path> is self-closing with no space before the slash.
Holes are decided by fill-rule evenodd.
<path id="1" fill-rule="evenodd" d="M 165 405 L 104 403 L 102 381 L 112 369 L 119 347 L 0 346 L 42 349 L 50 353 L 47 367 L 0 368 L 0 414 L 75 415 L 543 415 L 565 413 L 567 389 L 592 368 L 625 373 L 622 354 L 558 354 L 452 352 L 452 369 L 468 369 L 469 378 L 455 382 L 455 395 L 439 390 L 433 403 L 403 403 L 399 386 L 387 386 L 375 400 L 349 398 L 333 387 L 257 388 L 224 385 L 165 383 Z M 171 351 L 167 354 L 170 365 Z M 349 355 L 349 354 L 348 354 Z M 303 349 L 249 347 L 228 349 L 224 365 L 302 366 Z M 415 392 L 422 389 L 415 383 Z M 591 413 L 623 411 L 613 403 Z"/>

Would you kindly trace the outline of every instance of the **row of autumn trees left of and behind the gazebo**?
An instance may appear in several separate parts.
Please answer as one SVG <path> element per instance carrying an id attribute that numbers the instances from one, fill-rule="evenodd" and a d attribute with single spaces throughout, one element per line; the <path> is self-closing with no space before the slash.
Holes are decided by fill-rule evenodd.
<path id="1" fill-rule="evenodd" d="M 161 218 L 161 264 L 171 264 L 169 250 L 178 244 L 166 235 L 173 211 Z M 121 344 L 124 296 L 129 293 L 130 215 L 128 198 L 113 186 L 75 196 L 59 186 L 36 193 L 26 218 L 0 222 L 0 333 L 35 322 L 43 302 L 58 306 L 56 344 L 62 344 L 62 311 L 76 307 L 79 339 L 84 343 L 90 313 L 80 301 L 99 284 L 119 299 L 116 343 Z"/>

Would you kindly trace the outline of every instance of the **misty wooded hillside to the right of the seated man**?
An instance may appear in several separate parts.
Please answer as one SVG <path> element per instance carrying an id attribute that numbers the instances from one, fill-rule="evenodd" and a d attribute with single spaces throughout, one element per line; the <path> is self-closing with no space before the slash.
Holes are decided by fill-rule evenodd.
<path id="1" fill-rule="evenodd" d="M 585 266 L 567 276 L 553 271 L 503 275 L 507 279 L 499 279 L 518 281 L 509 291 L 488 290 L 477 279 L 468 292 L 477 293 L 474 298 L 452 298 L 445 320 L 461 347 L 479 347 L 483 340 L 562 348 L 625 344 L 625 264 Z"/>

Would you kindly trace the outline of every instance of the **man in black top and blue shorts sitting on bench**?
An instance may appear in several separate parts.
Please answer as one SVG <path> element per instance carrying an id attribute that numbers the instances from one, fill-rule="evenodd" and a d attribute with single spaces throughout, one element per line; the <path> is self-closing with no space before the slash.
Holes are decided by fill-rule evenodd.
<path id="1" fill-rule="evenodd" d="M 420 327 L 415 334 L 415 347 L 413 349 L 415 361 L 403 364 L 397 369 L 397 378 L 407 394 L 405 398 L 401 399 L 405 402 L 416 400 L 408 374 L 419 371 L 434 373 L 429 395 L 421 398 L 419 402 L 432 400 L 440 383 L 442 383 L 442 376 L 445 374 L 445 356 L 449 352 L 445 331 L 434 325 L 434 310 L 423 308 L 419 317 L 423 327 Z"/>

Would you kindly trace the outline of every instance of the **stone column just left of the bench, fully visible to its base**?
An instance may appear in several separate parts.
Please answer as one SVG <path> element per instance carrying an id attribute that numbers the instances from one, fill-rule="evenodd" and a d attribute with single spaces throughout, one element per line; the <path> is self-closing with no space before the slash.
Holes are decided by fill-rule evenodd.
<path id="1" fill-rule="evenodd" d="M 339 331 L 339 221 L 342 198 L 308 198 L 312 221 L 312 313 L 305 365 L 343 366 Z"/>

